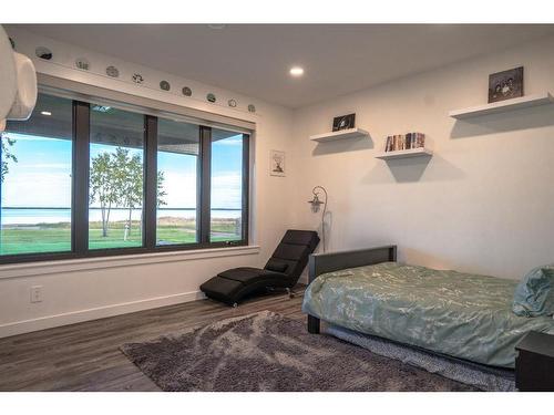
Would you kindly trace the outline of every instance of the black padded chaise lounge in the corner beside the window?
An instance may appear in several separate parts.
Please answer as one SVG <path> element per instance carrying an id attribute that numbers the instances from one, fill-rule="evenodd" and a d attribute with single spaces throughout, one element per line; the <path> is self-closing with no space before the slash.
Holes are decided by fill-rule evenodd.
<path id="1" fill-rule="evenodd" d="M 264 269 L 229 269 L 204 282 L 201 290 L 206 297 L 234 307 L 246 295 L 268 289 L 290 292 L 318 243 L 316 231 L 289 229 Z"/>

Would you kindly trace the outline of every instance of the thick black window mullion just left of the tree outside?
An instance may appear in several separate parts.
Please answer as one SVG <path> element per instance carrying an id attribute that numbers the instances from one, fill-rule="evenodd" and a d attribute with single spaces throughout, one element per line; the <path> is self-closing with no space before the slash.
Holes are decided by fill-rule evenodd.
<path id="1" fill-rule="evenodd" d="M 80 256 L 89 249 L 90 124 L 89 103 L 73 101 L 71 243 Z"/>

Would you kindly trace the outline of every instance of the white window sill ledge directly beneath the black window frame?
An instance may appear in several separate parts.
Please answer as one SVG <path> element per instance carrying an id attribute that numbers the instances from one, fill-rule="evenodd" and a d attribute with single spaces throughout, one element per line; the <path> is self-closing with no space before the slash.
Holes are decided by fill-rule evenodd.
<path id="1" fill-rule="evenodd" d="M 18 277 L 37 277 L 53 273 L 99 270 L 117 267 L 136 267 L 151 263 L 179 262 L 207 258 L 225 258 L 259 253 L 259 246 L 208 248 L 171 252 L 137 253 L 117 257 L 68 259 L 0 266 L 0 280 Z"/>

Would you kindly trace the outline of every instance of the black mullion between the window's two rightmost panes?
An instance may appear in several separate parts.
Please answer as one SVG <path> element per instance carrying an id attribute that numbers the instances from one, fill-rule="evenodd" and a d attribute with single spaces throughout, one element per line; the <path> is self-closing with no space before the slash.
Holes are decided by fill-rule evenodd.
<path id="1" fill-rule="evenodd" d="M 201 245 L 209 243 L 212 220 L 212 128 L 201 126 L 201 170 L 199 170 L 199 239 Z"/>

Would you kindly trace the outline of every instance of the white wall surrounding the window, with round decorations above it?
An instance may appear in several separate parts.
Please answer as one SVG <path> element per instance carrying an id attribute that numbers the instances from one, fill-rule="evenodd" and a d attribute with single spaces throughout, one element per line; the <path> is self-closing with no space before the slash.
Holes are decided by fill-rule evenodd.
<path id="1" fill-rule="evenodd" d="M 287 198 L 283 195 L 293 179 L 268 174 L 269 151 L 290 147 L 290 110 L 19 29 L 10 30 L 9 34 L 14 39 L 17 50 L 32 58 L 41 73 L 255 122 L 250 220 L 250 245 L 254 248 L 0 266 L 0 336 L 191 301 L 201 298 L 198 286 L 218 271 L 238 266 L 260 266 L 267 260 L 290 222 Z M 34 56 L 38 45 L 52 50 L 52 61 Z M 82 56 L 91 62 L 90 72 L 74 68 L 75 59 Z M 120 69 L 121 80 L 105 76 L 103 71 L 110 64 Z M 144 75 L 143 86 L 130 82 L 134 72 Z M 160 90 L 161 80 L 170 81 L 171 93 Z M 193 89 L 192 98 L 181 94 L 184 85 Z M 216 94 L 217 104 L 205 101 L 208 92 Z M 238 102 L 237 110 L 227 106 L 227 100 L 232 97 Z M 254 115 L 246 110 L 250 103 L 257 107 Z M 43 301 L 40 303 L 30 303 L 30 288 L 33 286 L 42 286 Z"/>

